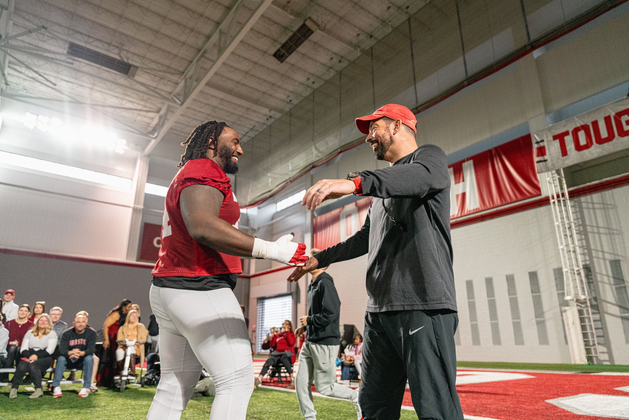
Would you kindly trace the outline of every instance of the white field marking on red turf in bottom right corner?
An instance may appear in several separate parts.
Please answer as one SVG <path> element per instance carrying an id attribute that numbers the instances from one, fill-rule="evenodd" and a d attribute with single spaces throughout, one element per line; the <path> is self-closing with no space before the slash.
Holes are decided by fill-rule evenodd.
<path id="1" fill-rule="evenodd" d="M 622 395 L 579 394 L 546 402 L 574 414 L 629 419 L 629 397 Z"/>

